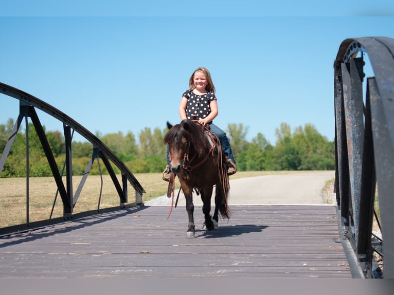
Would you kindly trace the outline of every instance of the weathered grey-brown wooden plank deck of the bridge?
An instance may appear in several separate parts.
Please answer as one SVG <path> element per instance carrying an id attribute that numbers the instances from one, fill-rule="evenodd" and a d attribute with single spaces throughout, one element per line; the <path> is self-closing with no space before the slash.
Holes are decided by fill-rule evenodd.
<path id="1" fill-rule="evenodd" d="M 184 207 L 136 207 L 0 238 L 0 278 L 351 278 L 332 206 L 232 206 L 187 239 Z"/>

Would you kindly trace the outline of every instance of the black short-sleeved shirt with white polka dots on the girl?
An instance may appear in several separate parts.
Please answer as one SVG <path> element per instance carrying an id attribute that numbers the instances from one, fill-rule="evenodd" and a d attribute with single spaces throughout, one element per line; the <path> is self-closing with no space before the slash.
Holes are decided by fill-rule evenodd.
<path id="1" fill-rule="evenodd" d="M 196 95 L 192 89 L 186 90 L 182 95 L 187 98 L 186 116 L 192 120 L 191 115 L 197 115 L 198 119 L 204 119 L 211 113 L 210 103 L 216 100 L 214 93 L 207 92 L 204 95 Z"/>

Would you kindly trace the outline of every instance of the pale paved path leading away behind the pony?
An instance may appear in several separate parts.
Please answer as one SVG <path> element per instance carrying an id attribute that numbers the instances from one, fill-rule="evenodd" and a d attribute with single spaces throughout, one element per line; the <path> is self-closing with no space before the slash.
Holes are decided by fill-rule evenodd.
<path id="1" fill-rule="evenodd" d="M 265 175 L 230 179 L 230 205 L 325 205 L 322 189 L 335 171 L 297 174 Z M 179 187 L 178 182 L 176 188 Z M 175 191 L 175 198 L 177 195 Z M 212 198 L 213 199 L 213 198 Z M 199 196 L 193 197 L 194 205 L 202 205 Z M 213 203 L 213 200 L 212 200 Z M 171 199 L 161 196 L 145 202 L 146 206 L 171 205 Z M 178 206 L 185 205 L 181 192 Z"/>

